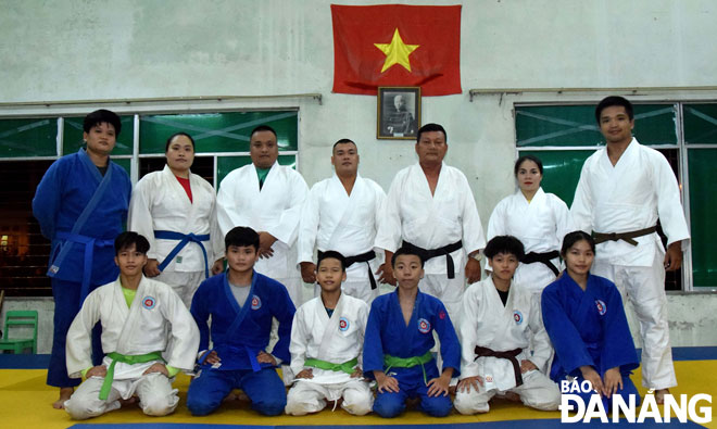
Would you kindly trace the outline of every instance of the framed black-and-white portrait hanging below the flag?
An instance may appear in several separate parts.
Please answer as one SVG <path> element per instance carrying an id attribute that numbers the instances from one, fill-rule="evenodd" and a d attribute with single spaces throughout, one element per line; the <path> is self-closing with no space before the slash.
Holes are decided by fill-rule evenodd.
<path id="1" fill-rule="evenodd" d="M 379 87 L 376 138 L 413 140 L 420 127 L 420 87 Z"/>

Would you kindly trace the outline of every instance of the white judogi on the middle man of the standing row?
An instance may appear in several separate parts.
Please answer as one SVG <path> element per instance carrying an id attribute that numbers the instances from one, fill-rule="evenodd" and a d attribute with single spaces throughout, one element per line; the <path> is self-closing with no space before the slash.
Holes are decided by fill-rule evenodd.
<path id="1" fill-rule="evenodd" d="M 335 250 L 347 257 L 374 250 L 385 200 L 383 189 L 361 175 L 356 175 L 351 195 L 336 174 L 314 185 L 301 213 L 298 263 L 313 261 L 314 245 L 319 251 Z M 352 264 L 347 268 L 341 290 L 370 303 L 378 296 L 379 289 L 372 290 L 368 269 L 374 273 L 378 286 L 379 265 L 378 257 Z M 315 291 L 318 294 L 320 289 L 315 288 Z"/>

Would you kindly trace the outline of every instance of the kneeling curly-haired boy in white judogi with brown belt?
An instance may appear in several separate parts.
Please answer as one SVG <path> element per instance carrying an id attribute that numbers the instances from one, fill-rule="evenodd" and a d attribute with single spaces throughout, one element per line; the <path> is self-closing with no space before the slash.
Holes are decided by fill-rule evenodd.
<path id="1" fill-rule="evenodd" d="M 513 236 L 498 236 L 488 242 L 485 253 L 491 275 L 470 286 L 463 296 L 458 324 L 462 379 L 455 409 L 461 414 L 487 413 L 488 401 L 502 393 L 518 395 L 533 408 L 557 409 L 557 384 L 541 373 L 553 349 L 540 302 L 512 281 L 524 257 L 523 243 Z"/>

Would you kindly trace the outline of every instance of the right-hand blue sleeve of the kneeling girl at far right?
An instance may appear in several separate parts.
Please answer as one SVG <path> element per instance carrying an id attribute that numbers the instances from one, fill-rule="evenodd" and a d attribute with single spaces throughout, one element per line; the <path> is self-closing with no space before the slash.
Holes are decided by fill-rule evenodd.
<path id="1" fill-rule="evenodd" d="M 609 282 L 607 279 L 602 281 Z M 606 289 L 607 308 L 603 317 L 603 348 L 600 356 L 603 367 L 598 369 L 601 374 L 614 367 L 620 367 L 621 371 L 631 370 L 639 365 L 638 353 L 625 316 L 622 299 L 614 285 L 611 283 Z"/>

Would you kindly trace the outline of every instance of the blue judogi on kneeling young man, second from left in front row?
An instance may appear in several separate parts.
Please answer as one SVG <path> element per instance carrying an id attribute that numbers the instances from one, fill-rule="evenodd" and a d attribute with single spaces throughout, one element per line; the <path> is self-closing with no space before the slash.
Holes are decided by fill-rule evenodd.
<path id="1" fill-rule="evenodd" d="M 201 374 L 189 384 L 189 411 L 196 416 L 207 415 L 219 407 L 232 389 L 239 388 L 259 413 L 282 413 L 287 403 L 284 382 L 271 364 L 256 362 L 256 355 L 268 345 L 272 319 L 276 318 L 279 341 L 272 354 L 287 364 L 291 361 L 289 341 L 294 312 L 284 285 L 256 272 L 241 306 L 231 293 L 226 273 L 204 280 L 191 303 L 201 335 L 199 350 L 207 350 L 211 338 L 222 362 L 218 368 L 202 365 Z M 211 335 L 206 323 L 210 316 Z"/>

